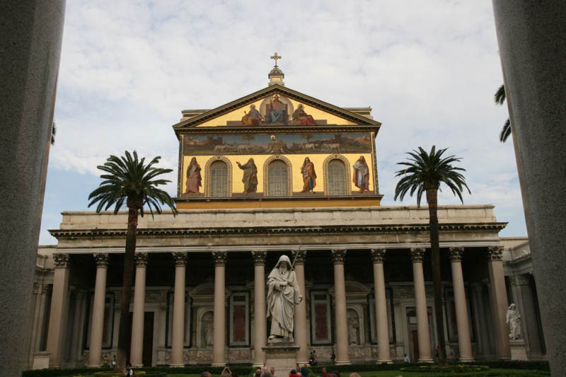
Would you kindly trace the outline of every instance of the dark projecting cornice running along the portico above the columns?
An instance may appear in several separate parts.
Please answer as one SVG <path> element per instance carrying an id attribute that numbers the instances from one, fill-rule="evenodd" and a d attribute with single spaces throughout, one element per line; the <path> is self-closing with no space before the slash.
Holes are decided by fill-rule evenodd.
<path id="1" fill-rule="evenodd" d="M 501 231 L 507 223 L 439 224 L 440 231 Z M 308 234 L 308 233 L 416 233 L 428 232 L 428 224 L 383 225 L 325 225 L 325 226 L 250 226 L 223 228 L 138 228 L 141 237 L 161 236 L 231 236 L 254 234 Z M 125 237 L 127 229 L 50 229 L 57 239 Z"/>

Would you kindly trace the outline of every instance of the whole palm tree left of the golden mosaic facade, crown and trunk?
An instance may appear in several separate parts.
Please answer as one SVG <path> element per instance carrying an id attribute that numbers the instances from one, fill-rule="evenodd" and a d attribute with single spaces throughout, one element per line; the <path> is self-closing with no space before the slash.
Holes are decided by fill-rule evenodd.
<path id="1" fill-rule="evenodd" d="M 128 151 L 120 158 L 110 156 L 102 166 L 97 166 L 106 174 L 100 175 L 103 182 L 88 195 L 91 202 L 88 207 L 98 202 L 96 211 L 107 210 L 114 206 L 114 214 L 125 204 L 128 208 L 128 228 L 126 250 L 124 257 L 124 277 L 122 284 L 122 301 L 120 302 L 120 329 L 118 330 L 117 367 L 126 366 L 127 335 L 129 333 L 129 301 L 132 294 L 134 273 L 134 254 L 136 252 L 136 232 L 138 214 L 144 216 L 144 206 L 149 208 L 151 216 L 154 211 L 161 214 L 161 205 L 167 204 L 177 214 L 173 199 L 167 192 L 157 188 L 166 185 L 170 180 L 155 179 L 158 175 L 171 173 L 171 169 L 156 168 L 154 165 L 160 156 L 145 164 L 145 158 L 139 159 L 137 152 L 134 156 Z"/>

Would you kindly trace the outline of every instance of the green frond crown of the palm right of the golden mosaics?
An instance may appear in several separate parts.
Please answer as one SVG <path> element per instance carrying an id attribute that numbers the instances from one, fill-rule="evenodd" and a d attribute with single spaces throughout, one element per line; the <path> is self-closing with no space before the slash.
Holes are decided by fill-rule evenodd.
<path id="1" fill-rule="evenodd" d="M 395 172 L 395 177 L 400 177 L 400 180 L 395 186 L 393 199 L 399 198 L 403 201 L 407 194 L 411 197 L 416 195 L 417 207 L 420 207 L 424 192 L 429 189 L 441 190 L 441 183 L 444 183 L 463 202 L 463 190 L 466 189 L 471 194 L 470 188 L 466 185 L 466 178 L 460 173 L 466 169 L 454 166 L 454 163 L 461 161 L 461 158 L 444 157 L 444 152 L 446 149 L 437 150 L 434 145 L 430 152 L 422 147 L 407 152 L 407 161 L 397 163 L 403 166 L 403 169 Z"/>

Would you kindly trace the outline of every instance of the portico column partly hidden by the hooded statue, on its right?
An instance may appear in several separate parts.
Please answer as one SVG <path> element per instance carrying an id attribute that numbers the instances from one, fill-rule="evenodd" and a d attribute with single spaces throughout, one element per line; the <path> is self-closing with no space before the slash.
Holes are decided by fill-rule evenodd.
<path id="1" fill-rule="evenodd" d="M 295 345 L 299 346 L 296 352 L 296 362 L 300 365 L 308 363 L 308 344 L 306 344 L 306 291 L 305 291 L 305 257 L 306 251 L 297 251 L 295 259 L 296 281 L 303 296 L 303 301 L 295 306 Z"/>

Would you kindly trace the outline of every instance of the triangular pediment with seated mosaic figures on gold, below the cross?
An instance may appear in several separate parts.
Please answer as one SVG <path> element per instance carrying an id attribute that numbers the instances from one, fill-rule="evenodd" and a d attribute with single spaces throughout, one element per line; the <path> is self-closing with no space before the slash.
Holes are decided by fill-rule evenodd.
<path id="1" fill-rule="evenodd" d="M 376 125 L 381 123 L 285 86 L 272 85 L 173 125 L 193 127 Z"/>

